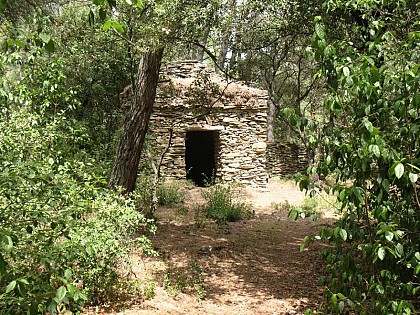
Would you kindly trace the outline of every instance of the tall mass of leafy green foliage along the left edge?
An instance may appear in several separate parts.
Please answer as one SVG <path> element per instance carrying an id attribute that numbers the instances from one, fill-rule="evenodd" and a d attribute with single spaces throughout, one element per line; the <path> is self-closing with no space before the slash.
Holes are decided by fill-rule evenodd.
<path id="1" fill-rule="evenodd" d="M 25 43 L 0 55 L 0 312 L 76 312 L 107 296 L 148 222 L 105 188 L 63 60 Z"/>

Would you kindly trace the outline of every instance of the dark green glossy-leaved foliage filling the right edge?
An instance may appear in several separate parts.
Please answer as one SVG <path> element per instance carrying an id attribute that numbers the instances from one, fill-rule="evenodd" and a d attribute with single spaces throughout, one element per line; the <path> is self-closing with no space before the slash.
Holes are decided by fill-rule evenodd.
<path id="1" fill-rule="evenodd" d="M 410 1 L 327 1 L 363 23 L 362 45 L 328 43 L 316 18 L 314 58 L 329 94 L 329 119 L 312 133 L 324 161 L 308 174 L 334 174 L 330 190 L 342 219 L 320 237 L 334 246 L 327 261 L 328 314 L 414 314 L 420 290 L 418 4 Z M 356 20 L 357 22 L 357 20 Z M 307 132 L 310 132 L 307 130 Z M 351 182 L 351 185 L 343 183 Z M 302 188 L 314 187 L 303 177 Z"/>

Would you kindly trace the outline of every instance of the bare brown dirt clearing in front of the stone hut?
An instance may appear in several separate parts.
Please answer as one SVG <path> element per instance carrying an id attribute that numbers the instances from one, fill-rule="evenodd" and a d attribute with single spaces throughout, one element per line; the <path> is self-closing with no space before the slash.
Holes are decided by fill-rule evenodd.
<path id="1" fill-rule="evenodd" d="M 133 272 L 143 294 L 121 298 L 90 314 L 303 314 L 322 300 L 318 278 L 323 273 L 322 244 L 303 252 L 299 246 L 320 225 L 293 221 L 283 206 L 301 205 L 304 193 L 292 182 L 274 180 L 267 189 L 240 189 L 241 201 L 252 203 L 251 219 L 226 227 L 194 219 L 201 190 L 187 191 L 187 209 L 158 210 L 152 242 L 157 258 L 133 254 Z"/>

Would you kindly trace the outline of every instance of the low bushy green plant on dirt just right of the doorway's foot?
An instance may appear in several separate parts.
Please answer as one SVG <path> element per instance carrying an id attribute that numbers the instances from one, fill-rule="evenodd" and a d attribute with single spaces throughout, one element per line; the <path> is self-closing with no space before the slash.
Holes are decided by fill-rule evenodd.
<path id="1" fill-rule="evenodd" d="M 204 191 L 203 197 L 206 200 L 203 213 L 217 224 L 235 222 L 252 214 L 249 204 L 234 200 L 230 187 L 215 185 Z"/>

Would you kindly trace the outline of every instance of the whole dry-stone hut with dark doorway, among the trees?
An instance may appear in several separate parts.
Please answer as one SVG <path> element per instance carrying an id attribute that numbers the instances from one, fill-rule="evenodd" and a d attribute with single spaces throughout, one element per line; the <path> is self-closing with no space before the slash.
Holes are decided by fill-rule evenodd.
<path id="1" fill-rule="evenodd" d="M 197 61 L 163 66 L 149 137 L 164 178 L 264 187 L 266 91 L 227 82 Z M 170 145 L 169 145 L 170 141 Z"/>

